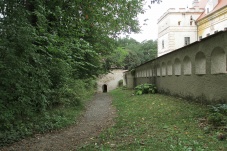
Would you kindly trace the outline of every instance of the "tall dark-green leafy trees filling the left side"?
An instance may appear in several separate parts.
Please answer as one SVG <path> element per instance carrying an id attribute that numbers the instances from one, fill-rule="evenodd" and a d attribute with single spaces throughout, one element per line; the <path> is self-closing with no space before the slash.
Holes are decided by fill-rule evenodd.
<path id="1" fill-rule="evenodd" d="M 80 105 L 141 12 L 142 0 L 1 0 L 0 145 L 32 133 L 31 117 Z"/>

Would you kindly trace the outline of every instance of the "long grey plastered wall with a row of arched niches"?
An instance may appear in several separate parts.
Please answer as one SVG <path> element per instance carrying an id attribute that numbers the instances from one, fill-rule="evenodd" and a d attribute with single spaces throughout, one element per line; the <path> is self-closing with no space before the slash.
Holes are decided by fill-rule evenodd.
<path id="1" fill-rule="evenodd" d="M 136 67 L 132 88 L 156 84 L 159 91 L 207 101 L 227 102 L 227 32 L 192 43 Z M 134 82 L 129 82 L 133 80 Z"/>

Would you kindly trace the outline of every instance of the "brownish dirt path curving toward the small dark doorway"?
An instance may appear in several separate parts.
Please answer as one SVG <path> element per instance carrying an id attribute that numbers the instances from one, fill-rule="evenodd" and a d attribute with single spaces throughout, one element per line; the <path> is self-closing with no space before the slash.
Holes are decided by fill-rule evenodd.
<path id="1" fill-rule="evenodd" d="M 69 151 L 76 150 L 79 145 L 86 144 L 103 129 L 111 126 L 115 109 L 111 105 L 108 93 L 98 93 L 87 106 L 80 122 L 62 131 L 36 135 L 25 139 L 1 151 Z"/>

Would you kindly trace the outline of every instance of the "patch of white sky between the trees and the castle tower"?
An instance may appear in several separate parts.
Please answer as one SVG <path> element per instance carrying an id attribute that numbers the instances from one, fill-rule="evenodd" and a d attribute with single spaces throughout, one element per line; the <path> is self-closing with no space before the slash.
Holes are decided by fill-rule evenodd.
<path id="1" fill-rule="evenodd" d="M 145 0 L 147 4 L 144 6 L 147 10 L 146 13 L 138 16 L 140 21 L 140 26 L 142 26 L 142 31 L 140 34 L 130 34 L 129 37 L 142 42 L 144 40 L 157 40 L 158 38 L 158 19 L 169 9 L 169 8 L 190 8 L 192 6 L 193 0 L 162 0 L 160 4 L 152 4 L 150 0 Z M 151 6 L 151 9 L 148 8 Z M 143 25 L 144 20 L 147 25 Z"/>

